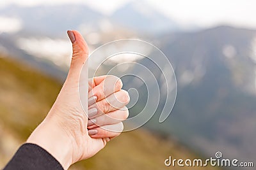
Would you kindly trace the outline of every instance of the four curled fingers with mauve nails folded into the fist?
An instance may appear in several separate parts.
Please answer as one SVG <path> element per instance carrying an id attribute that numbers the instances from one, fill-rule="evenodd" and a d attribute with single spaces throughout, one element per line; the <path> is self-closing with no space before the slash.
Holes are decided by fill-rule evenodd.
<path id="1" fill-rule="evenodd" d="M 92 138 L 114 138 L 113 131 L 129 116 L 125 107 L 129 94 L 121 90 L 122 81 L 116 76 L 95 77 L 88 84 L 88 134 Z"/>

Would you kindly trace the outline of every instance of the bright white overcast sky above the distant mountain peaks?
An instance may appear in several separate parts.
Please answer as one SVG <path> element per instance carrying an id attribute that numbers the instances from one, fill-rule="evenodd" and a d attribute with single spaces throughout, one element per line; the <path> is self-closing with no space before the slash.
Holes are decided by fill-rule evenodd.
<path id="1" fill-rule="evenodd" d="M 38 4 L 86 4 L 94 10 L 110 15 L 125 3 L 134 0 L 1 0 L 0 8 L 8 4 L 35 6 Z M 211 27 L 229 24 L 239 27 L 256 28 L 255 0 L 143 0 L 164 15 L 172 18 L 180 25 L 198 25 Z M 134 1 L 136 2 L 136 1 Z"/>

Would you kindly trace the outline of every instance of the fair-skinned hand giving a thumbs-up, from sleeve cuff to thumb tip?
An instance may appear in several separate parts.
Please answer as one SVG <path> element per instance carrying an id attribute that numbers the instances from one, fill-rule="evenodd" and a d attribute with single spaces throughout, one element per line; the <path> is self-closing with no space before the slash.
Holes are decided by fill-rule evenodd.
<path id="1" fill-rule="evenodd" d="M 68 36 L 73 54 L 67 80 L 47 117 L 27 140 L 27 143 L 35 143 L 51 153 L 64 169 L 104 148 L 110 139 L 122 132 L 122 120 L 129 115 L 125 108 L 129 94 L 121 89 L 119 78 L 99 76 L 79 84 L 81 69 L 88 59 L 88 46 L 79 32 L 68 31 Z M 80 104 L 78 90 L 86 83 L 88 113 L 84 113 Z"/>

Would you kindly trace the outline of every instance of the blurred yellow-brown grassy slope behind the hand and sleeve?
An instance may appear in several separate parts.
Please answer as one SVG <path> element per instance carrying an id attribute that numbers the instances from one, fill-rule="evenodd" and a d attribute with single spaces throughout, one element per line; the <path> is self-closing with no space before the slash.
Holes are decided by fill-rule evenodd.
<path id="1" fill-rule="evenodd" d="M 8 57 L 0 57 L 0 75 L 0 167 L 3 167 L 43 120 L 61 83 Z M 137 129 L 121 134 L 97 155 L 70 169 L 185 169 L 165 167 L 164 160 L 169 155 L 175 159 L 198 157 L 175 141 Z"/>

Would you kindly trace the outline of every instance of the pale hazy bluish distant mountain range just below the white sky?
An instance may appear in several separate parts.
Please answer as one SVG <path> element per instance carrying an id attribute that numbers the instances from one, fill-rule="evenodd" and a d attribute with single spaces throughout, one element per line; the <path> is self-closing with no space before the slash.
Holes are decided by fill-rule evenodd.
<path id="1" fill-rule="evenodd" d="M 84 4 L 56 6 L 15 6 L 0 8 L 1 17 L 17 18 L 22 24 L 19 34 L 63 38 L 66 31 L 84 33 L 108 32 L 109 29 L 132 30 L 138 33 L 177 31 L 179 26 L 154 10 L 147 3 L 134 2 L 117 9 L 113 15 L 103 15 Z"/>

